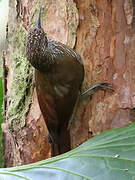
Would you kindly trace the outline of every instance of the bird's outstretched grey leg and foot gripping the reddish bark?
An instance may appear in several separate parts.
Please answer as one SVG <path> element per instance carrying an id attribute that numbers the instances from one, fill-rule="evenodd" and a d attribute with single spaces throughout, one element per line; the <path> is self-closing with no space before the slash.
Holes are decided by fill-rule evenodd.
<path id="1" fill-rule="evenodd" d="M 84 96 L 87 94 L 92 95 L 95 90 L 99 90 L 99 89 L 114 92 L 114 88 L 112 88 L 111 85 L 112 85 L 112 83 L 109 83 L 109 82 L 96 83 L 92 87 L 90 87 L 89 89 L 87 89 L 86 91 L 81 93 L 81 96 Z"/>

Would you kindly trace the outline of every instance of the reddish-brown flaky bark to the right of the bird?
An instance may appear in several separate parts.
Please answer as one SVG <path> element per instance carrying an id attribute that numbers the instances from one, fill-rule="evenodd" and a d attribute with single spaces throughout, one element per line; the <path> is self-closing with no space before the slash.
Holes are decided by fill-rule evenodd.
<path id="1" fill-rule="evenodd" d="M 73 147 L 91 135 L 134 121 L 134 33 L 130 0 L 77 1 L 80 25 L 76 49 L 85 63 L 84 87 L 113 84 L 114 93 L 96 92 L 82 100 L 72 126 Z M 79 136 L 78 136 L 79 135 Z"/>

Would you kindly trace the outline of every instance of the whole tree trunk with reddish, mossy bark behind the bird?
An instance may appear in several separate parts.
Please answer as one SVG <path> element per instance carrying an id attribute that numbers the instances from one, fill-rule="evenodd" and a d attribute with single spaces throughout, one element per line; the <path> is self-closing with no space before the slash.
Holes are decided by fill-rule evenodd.
<path id="1" fill-rule="evenodd" d="M 10 1 L 4 63 L 5 167 L 50 157 L 48 131 L 34 87 L 34 69 L 25 56 L 25 37 L 43 6 L 48 37 L 68 44 L 82 56 L 82 90 L 111 82 L 115 92 L 98 90 L 81 99 L 70 127 L 72 148 L 110 128 L 134 121 L 135 35 L 131 0 Z"/>

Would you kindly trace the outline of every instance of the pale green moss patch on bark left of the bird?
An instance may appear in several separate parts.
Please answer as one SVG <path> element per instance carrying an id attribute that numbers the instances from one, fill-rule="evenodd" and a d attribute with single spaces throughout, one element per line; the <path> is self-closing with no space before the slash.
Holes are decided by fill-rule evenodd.
<path id="1" fill-rule="evenodd" d="M 13 52 L 13 81 L 7 118 L 10 130 L 16 131 L 25 126 L 25 117 L 31 103 L 33 70 L 25 56 L 26 31 L 20 26 L 10 38 Z"/>

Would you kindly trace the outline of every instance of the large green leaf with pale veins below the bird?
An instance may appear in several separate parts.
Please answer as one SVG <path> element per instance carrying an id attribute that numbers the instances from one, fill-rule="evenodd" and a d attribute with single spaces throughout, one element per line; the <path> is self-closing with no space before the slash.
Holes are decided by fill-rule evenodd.
<path id="1" fill-rule="evenodd" d="M 0 169 L 0 180 L 135 180 L 135 123 L 106 131 L 63 155 Z"/>

